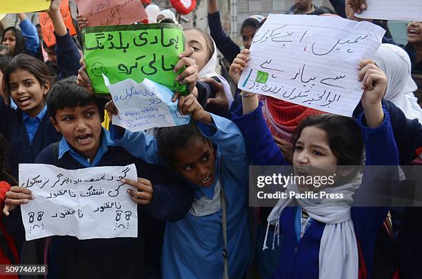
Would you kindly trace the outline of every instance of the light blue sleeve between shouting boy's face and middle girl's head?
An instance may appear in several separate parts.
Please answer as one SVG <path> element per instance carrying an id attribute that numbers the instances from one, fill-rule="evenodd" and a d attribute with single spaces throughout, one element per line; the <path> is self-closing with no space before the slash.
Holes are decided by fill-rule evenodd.
<path id="1" fill-rule="evenodd" d="M 164 165 L 165 162 L 158 154 L 157 140 L 154 136 L 145 132 L 130 132 L 125 130 L 123 136 L 117 132 L 117 127 L 110 125 L 111 140 L 127 152 L 143 161 L 154 164 Z"/>

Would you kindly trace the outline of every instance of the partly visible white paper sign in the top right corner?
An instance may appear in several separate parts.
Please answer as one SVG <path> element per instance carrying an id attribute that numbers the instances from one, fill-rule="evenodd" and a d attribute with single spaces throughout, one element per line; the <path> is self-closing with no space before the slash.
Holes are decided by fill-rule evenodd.
<path id="1" fill-rule="evenodd" d="M 366 0 L 366 10 L 355 17 L 395 21 L 422 21 L 421 0 Z"/>

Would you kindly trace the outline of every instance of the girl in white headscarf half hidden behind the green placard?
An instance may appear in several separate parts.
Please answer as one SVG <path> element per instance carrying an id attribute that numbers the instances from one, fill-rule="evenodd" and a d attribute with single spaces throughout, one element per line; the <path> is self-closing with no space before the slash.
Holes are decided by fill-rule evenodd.
<path id="1" fill-rule="evenodd" d="M 205 110 L 224 116 L 233 102 L 228 82 L 215 72 L 217 68 L 217 47 L 210 35 L 197 28 L 185 30 L 186 47 L 194 49 L 192 57 L 198 65 L 199 79 L 211 85 L 211 94 L 205 103 Z M 201 103 L 201 101 L 199 101 Z"/>

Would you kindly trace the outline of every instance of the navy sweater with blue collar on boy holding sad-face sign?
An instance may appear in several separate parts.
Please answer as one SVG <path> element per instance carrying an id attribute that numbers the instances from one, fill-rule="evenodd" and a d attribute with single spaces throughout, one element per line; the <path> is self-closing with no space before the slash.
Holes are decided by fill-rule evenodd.
<path id="1" fill-rule="evenodd" d="M 165 167 L 145 163 L 131 156 L 123 148 L 114 146 L 108 131 L 104 129 L 99 148 L 97 154 L 102 156 L 93 162 L 92 167 L 135 163 L 138 177 L 152 182 L 152 202 L 138 207 L 139 237 L 78 240 L 72 236 L 54 236 L 48 258 L 49 278 L 72 278 L 81 275 L 142 278 L 143 242 L 151 241 L 142 239 L 143 227 L 149 225 L 143 223 L 142 211 L 154 218 L 177 221 L 185 216 L 192 204 L 192 190 L 187 183 L 172 175 Z M 35 163 L 57 165 L 64 169 L 84 168 L 72 152 L 72 147 L 69 147 L 63 138 L 59 147 L 60 158 L 54 158 L 52 144 L 43 149 Z M 157 243 L 157 247 L 159 245 Z"/>

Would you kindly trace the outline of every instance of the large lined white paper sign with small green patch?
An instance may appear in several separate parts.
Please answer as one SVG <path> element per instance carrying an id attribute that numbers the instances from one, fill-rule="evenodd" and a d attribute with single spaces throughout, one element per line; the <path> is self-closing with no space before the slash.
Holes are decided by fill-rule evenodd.
<path id="1" fill-rule="evenodd" d="M 352 116 L 363 94 L 357 65 L 374 56 L 384 33 L 368 22 L 270 14 L 252 40 L 238 87 Z"/>

